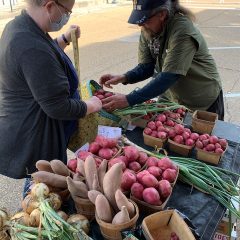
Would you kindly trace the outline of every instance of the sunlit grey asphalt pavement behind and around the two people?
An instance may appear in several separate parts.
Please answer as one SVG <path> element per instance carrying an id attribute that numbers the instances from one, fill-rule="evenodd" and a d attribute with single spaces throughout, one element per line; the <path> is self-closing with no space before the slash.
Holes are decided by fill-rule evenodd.
<path id="1" fill-rule="evenodd" d="M 240 124 L 240 1 L 185 1 L 184 5 L 196 14 L 196 24 L 216 60 L 223 82 L 225 121 Z M 69 24 L 81 27 L 82 82 L 98 80 L 105 73 L 125 73 L 137 64 L 139 28 L 127 23 L 131 6 L 131 1 L 125 1 L 87 9 L 74 8 Z M 13 13 L 0 8 L 0 34 L 21 7 Z M 73 57 L 71 46 L 66 52 Z M 117 86 L 114 91 L 128 93 L 144 84 Z M 0 208 L 5 207 L 12 213 L 19 209 L 22 185 L 23 180 L 0 176 Z"/>

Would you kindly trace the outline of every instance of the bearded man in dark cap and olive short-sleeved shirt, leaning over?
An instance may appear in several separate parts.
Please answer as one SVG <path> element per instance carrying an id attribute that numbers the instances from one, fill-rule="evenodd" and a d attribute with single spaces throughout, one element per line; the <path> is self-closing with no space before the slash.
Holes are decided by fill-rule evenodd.
<path id="1" fill-rule="evenodd" d="M 123 75 L 106 74 L 100 84 L 133 84 L 153 76 L 142 89 L 103 100 L 108 111 L 142 103 L 163 93 L 186 107 L 224 118 L 221 80 L 194 16 L 171 0 L 134 1 L 129 23 L 141 27 L 139 64 Z"/>

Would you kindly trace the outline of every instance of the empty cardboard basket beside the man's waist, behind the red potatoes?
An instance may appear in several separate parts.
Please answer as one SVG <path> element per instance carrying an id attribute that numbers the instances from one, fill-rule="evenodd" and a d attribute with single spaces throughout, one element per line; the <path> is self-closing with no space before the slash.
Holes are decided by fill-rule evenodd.
<path id="1" fill-rule="evenodd" d="M 217 119 L 218 115 L 216 113 L 195 111 L 192 116 L 193 132 L 211 134 Z"/>

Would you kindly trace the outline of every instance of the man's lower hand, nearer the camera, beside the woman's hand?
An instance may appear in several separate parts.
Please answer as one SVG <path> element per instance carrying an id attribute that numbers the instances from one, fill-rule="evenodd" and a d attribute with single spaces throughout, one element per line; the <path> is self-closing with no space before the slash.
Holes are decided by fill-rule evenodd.
<path id="1" fill-rule="evenodd" d="M 103 108 L 108 112 L 112 112 L 115 109 L 121 109 L 128 107 L 128 101 L 124 94 L 117 93 L 111 97 L 102 100 Z"/>

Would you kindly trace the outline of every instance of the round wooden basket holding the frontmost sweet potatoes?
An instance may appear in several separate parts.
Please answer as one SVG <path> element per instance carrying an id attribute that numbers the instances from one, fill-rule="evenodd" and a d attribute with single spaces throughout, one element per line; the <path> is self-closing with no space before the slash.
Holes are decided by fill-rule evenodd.
<path id="1" fill-rule="evenodd" d="M 104 239 L 122 240 L 121 231 L 125 230 L 125 229 L 132 229 L 136 226 L 136 222 L 139 217 L 138 206 L 136 205 L 135 202 L 131 201 L 130 199 L 129 199 L 129 201 L 133 203 L 135 210 L 136 210 L 136 214 L 127 223 L 123 223 L 123 224 L 106 223 L 106 222 L 100 220 L 98 218 L 98 216 L 96 215 L 96 221 L 100 226 L 100 230 L 101 230 L 101 233 L 102 233 Z"/>

